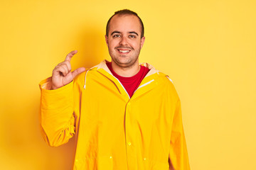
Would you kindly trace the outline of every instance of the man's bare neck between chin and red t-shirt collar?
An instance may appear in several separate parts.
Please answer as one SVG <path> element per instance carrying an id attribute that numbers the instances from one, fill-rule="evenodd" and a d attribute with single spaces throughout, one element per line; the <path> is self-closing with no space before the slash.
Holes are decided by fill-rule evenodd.
<path id="1" fill-rule="evenodd" d="M 111 62 L 112 69 L 121 77 L 133 77 L 139 72 L 139 62 L 133 64 L 131 67 L 119 67 L 113 61 Z"/>

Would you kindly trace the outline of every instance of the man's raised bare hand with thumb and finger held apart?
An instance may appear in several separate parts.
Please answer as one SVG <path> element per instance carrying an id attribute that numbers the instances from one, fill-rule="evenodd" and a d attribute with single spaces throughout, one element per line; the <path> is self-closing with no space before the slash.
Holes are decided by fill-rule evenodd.
<path id="1" fill-rule="evenodd" d="M 65 61 L 60 62 L 60 64 L 53 69 L 51 89 L 58 89 L 65 86 L 73 81 L 78 74 L 85 72 L 84 67 L 80 67 L 71 72 L 70 60 L 77 52 L 77 50 L 70 52 L 65 58 Z"/>

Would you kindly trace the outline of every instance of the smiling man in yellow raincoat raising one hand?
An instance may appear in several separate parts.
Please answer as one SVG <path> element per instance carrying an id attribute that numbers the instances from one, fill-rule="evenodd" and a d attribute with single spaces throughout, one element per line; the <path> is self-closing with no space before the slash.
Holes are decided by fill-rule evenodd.
<path id="1" fill-rule="evenodd" d="M 112 58 L 70 72 L 70 52 L 41 81 L 41 127 L 48 145 L 75 135 L 74 169 L 190 169 L 181 105 L 169 77 L 139 64 L 144 26 L 117 11 L 105 40 Z"/>

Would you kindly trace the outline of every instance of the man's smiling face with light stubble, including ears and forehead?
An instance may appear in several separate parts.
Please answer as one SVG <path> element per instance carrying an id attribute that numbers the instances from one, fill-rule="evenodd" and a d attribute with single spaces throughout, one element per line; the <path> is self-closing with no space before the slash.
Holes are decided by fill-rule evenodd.
<path id="1" fill-rule="evenodd" d="M 139 64 L 139 52 L 145 38 L 141 38 L 139 18 L 133 15 L 116 15 L 110 21 L 108 36 L 105 35 L 112 62 L 118 67 Z"/>

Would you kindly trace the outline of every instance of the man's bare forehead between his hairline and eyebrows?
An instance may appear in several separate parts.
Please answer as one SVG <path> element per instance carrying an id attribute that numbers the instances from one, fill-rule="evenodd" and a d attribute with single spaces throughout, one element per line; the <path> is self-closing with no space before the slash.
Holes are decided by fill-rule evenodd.
<path id="1" fill-rule="evenodd" d="M 110 34 L 115 30 L 121 33 L 136 31 L 140 34 L 141 29 L 139 18 L 134 15 L 116 15 L 110 21 Z"/>

